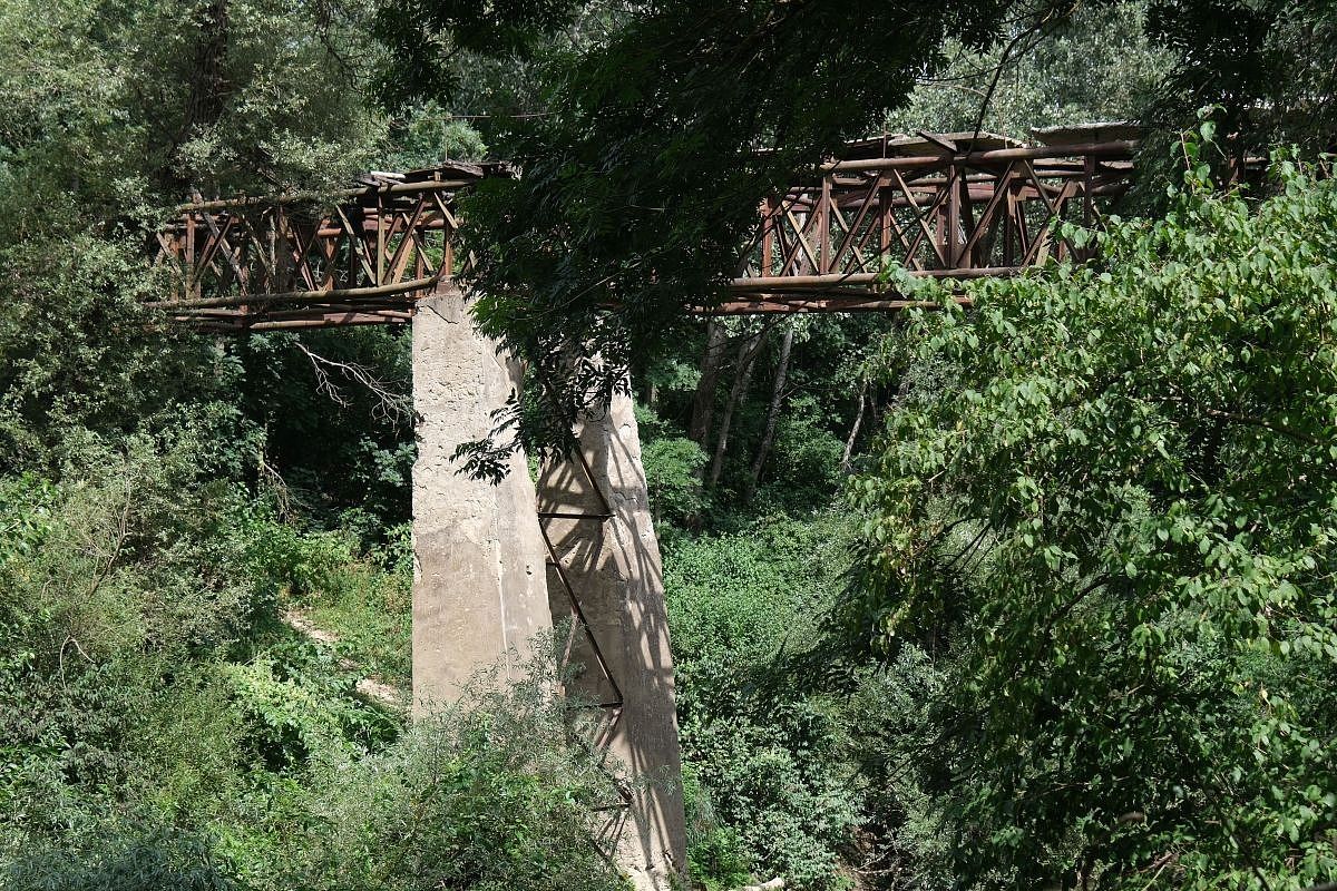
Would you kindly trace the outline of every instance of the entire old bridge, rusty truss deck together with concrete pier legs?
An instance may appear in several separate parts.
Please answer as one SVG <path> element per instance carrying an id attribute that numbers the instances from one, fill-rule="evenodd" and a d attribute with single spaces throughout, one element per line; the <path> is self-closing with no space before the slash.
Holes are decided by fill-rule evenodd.
<path id="1" fill-rule="evenodd" d="M 1092 224 L 1131 175 L 1135 134 L 1102 124 L 1001 136 L 921 134 L 846 147 L 759 203 L 726 297 L 699 314 L 893 311 L 913 301 L 884 270 L 1011 275 L 1074 251 L 1064 220 Z M 659 545 L 631 399 L 582 418 L 579 450 L 497 485 L 459 473 L 456 448 L 488 435 L 520 369 L 475 329 L 456 198 L 505 164 L 370 174 L 336 195 L 195 200 L 156 234 L 172 270 L 156 306 L 205 333 L 408 325 L 418 454 L 413 468 L 413 704 L 457 699 L 479 669 L 524 669 L 558 635 L 566 691 L 588 708 L 572 732 L 614 779 L 602 840 L 638 888 L 668 891 L 686 866 L 673 659 Z"/>

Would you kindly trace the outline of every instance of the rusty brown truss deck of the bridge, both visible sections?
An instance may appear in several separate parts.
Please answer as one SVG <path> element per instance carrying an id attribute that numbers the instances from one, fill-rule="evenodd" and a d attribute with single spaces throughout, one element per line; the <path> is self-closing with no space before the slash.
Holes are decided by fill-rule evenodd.
<path id="1" fill-rule="evenodd" d="M 1099 223 L 1130 184 L 1123 124 L 853 143 L 812 182 L 765 200 L 725 302 L 702 314 L 896 310 L 885 270 L 1009 275 L 1075 248 L 1060 222 Z M 210 331 L 404 323 L 445 278 L 467 282 L 455 196 L 507 164 L 372 174 L 336 195 L 199 200 L 156 235 L 179 283 L 158 306 Z"/>

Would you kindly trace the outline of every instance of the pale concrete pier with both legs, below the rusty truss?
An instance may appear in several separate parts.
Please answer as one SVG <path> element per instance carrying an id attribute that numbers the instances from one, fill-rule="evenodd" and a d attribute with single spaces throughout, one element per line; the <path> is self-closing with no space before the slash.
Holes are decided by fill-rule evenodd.
<path id="1" fill-rule="evenodd" d="M 572 729 L 604 755 L 622 791 L 598 811 L 607 818 L 599 842 L 639 890 L 670 891 L 686 866 L 682 765 L 632 402 L 619 395 L 584 421 L 583 457 L 545 468 L 537 493 L 520 454 L 499 485 L 459 473 L 455 449 L 488 435 L 519 383 L 453 285 L 418 303 L 413 713 L 456 700 L 499 663 L 503 680 L 519 680 L 535 639 L 566 624 L 564 668 L 576 672 L 566 692 L 588 705 Z"/>

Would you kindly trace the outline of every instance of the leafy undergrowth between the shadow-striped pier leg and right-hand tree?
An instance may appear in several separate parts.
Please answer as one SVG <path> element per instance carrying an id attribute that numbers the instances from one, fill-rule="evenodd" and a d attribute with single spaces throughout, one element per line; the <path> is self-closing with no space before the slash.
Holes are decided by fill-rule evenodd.
<path id="1" fill-rule="evenodd" d="M 806 692 L 789 661 L 837 594 L 846 534 L 833 516 L 773 517 L 666 546 L 685 761 L 750 871 L 794 887 L 841 884 L 861 822 L 838 701 Z M 731 875 L 729 843 L 703 832 L 702 880 Z"/>

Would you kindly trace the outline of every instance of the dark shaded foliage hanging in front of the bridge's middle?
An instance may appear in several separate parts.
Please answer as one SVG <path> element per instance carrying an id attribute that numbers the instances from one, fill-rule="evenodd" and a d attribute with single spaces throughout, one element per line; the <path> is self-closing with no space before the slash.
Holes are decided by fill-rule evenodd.
<path id="1" fill-rule="evenodd" d="M 380 21 L 417 48 L 397 72 L 414 95 L 449 87 L 461 49 L 451 35 L 487 48 L 469 36 L 496 19 L 543 32 L 574 5 L 427 0 L 397 3 Z M 754 223 L 751 196 L 901 106 L 945 37 L 981 47 L 1008 4 L 840 5 L 648 5 L 600 40 L 540 55 L 536 111 L 493 131 L 524 176 L 489 182 L 469 202 L 480 220 L 476 317 L 558 395 L 539 413 L 513 406 L 507 421 L 528 418 L 519 434 L 531 446 L 564 443 L 575 411 L 607 399 L 639 357 L 683 333 L 685 305 L 718 299 Z M 826 27 L 833 20 L 860 27 Z M 499 44 L 501 55 L 515 49 Z"/>

